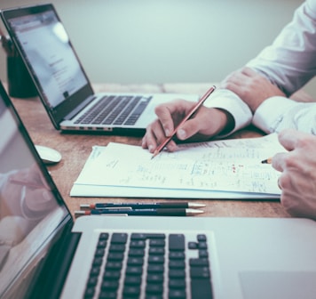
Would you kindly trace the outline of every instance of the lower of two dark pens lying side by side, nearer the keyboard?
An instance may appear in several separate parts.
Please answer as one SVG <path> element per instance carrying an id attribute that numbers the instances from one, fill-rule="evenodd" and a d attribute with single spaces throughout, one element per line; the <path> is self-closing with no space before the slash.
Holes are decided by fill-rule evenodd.
<path id="1" fill-rule="evenodd" d="M 75 215 L 111 215 L 111 214 L 127 214 L 129 216 L 193 216 L 195 214 L 204 213 L 202 210 L 191 208 L 162 208 L 162 209 L 134 209 L 134 210 L 89 210 L 89 211 L 75 211 Z"/>

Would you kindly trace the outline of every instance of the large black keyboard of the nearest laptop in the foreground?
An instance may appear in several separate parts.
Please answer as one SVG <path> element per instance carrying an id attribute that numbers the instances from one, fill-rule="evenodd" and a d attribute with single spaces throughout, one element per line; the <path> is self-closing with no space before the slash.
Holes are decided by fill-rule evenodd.
<path id="1" fill-rule="evenodd" d="M 101 233 L 84 298 L 211 299 L 207 236 Z"/>

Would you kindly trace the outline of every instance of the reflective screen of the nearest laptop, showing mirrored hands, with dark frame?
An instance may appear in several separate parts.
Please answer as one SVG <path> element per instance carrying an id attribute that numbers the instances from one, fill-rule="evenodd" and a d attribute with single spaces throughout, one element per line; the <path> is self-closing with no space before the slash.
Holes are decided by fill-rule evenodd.
<path id="1" fill-rule="evenodd" d="M 1 84 L 0 132 L 0 297 L 24 298 L 69 214 Z"/>

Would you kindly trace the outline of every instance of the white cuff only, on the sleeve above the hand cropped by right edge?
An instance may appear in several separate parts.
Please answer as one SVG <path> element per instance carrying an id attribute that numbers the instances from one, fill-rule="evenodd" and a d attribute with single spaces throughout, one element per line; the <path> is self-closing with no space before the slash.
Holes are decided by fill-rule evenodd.
<path id="1" fill-rule="evenodd" d="M 257 108 L 252 123 L 265 133 L 277 132 L 277 127 L 280 125 L 285 111 L 296 105 L 296 101 L 286 97 L 273 96 L 263 101 Z"/>

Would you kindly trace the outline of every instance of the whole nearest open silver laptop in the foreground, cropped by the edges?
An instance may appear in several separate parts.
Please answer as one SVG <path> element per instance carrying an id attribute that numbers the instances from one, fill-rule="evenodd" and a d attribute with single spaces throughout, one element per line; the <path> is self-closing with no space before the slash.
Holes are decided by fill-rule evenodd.
<path id="1" fill-rule="evenodd" d="M 312 220 L 74 222 L 1 84 L 0 132 L 1 298 L 315 297 Z"/>

